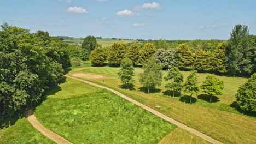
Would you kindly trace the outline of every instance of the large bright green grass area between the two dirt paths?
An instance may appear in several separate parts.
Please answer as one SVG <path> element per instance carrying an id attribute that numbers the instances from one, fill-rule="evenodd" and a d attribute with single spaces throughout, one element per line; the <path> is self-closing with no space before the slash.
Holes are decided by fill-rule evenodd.
<path id="1" fill-rule="evenodd" d="M 158 143 L 173 130 L 182 131 L 173 142 L 207 143 L 112 92 L 68 78 L 34 113 L 72 143 Z"/>

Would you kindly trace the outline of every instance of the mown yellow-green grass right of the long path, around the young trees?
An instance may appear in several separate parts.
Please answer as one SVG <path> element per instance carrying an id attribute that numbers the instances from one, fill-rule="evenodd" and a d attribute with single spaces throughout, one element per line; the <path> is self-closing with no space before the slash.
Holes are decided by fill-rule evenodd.
<path id="1" fill-rule="evenodd" d="M 240 77 L 226 77 L 218 76 L 224 80 L 224 94 L 215 98 L 215 103 L 208 103 L 208 97 L 201 95 L 201 99 L 194 99 L 194 104 L 181 103 L 181 101 L 187 101 L 188 98 L 176 97 L 171 98 L 168 96 L 169 91 L 166 91 L 164 87 L 159 87 L 154 93 L 146 94 L 142 91 L 138 91 L 141 85 L 138 83 L 138 74 L 143 70 L 136 68 L 136 76 L 133 88 L 135 90 L 128 90 L 121 88 L 120 80 L 117 79 L 117 72 L 119 68 L 78 68 L 70 71 L 69 74 L 74 73 L 98 73 L 104 75 L 104 82 L 102 79 L 88 79 L 92 82 L 100 83 L 107 87 L 116 89 L 119 92 L 126 94 L 127 96 L 146 104 L 153 109 L 156 109 L 166 115 L 182 122 L 189 127 L 195 128 L 202 133 L 205 133 L 214 139 L 222 141 L 224 143 L 255 143 L 256 134 L 256 121 L 255 117 L 249 118 L 246 115 L 237 115 L 239 112 L 230 107 L 232 101 L 235 100 L 234 94 L 238 89 L 238 86 L 245 82 L 247 79 Z M 189 72 L 182 71 L 186 77 Z M 166 72 L 164 73 L 166 75 Z M 198 74 L 199 81 L 202 81 L 207 74 Z M 165 82 L 164 82 L 165 83 Z M 165 94 L 165 95 L 164 95 Z M 218 100 L 219 101 L 218 101 Z M 155 107 L 160 105 L 160 108 Z M 213 108 L 213 109 L 210 109 Z M 230 111 L 230 112 L 227 112 Z M 237 114 L 235 114 L 237 113 Z"/>

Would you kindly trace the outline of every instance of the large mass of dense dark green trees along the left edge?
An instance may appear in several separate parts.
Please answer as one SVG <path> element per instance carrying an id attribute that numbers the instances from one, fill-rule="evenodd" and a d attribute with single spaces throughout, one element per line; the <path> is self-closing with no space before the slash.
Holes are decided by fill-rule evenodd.
<path id="1" fill-rule="evenodd" d="M 12 115 L 36 104 L 70 65 L 67 44 L 48 32 L 2 25 L 0 31 L 0 113 Z"/>

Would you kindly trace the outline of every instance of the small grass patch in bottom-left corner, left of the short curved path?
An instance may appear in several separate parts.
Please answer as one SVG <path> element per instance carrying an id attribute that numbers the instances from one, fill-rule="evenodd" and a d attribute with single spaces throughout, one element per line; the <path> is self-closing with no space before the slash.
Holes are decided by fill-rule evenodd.
<path id="1" fill-rule="evenodd" d="M 13 125 L 0 129 L 0 143 L 55 143 L 36 130 L 27 119 L 22 116 Z"/>

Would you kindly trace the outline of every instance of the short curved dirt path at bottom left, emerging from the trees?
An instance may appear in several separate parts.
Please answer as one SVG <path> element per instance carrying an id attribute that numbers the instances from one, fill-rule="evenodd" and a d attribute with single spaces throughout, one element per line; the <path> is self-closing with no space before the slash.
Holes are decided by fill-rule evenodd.
<path id="1" fill-rule="evenodd" d="M 67 141 L 63 137 L 55 134 L 53 131 L 50 131 L 49 129 L 46 129 L 44 125 L 42 125 L 37 118 L 34 116 L 33 109 L 27 109 L 26 110 L 26 117 L 28 122 L 30 122 L 34 128 L 36 128 L 40 133 L 42 133 L 44 136 L 48 137 L 50 140 L 53 140 L 57 144 L 72 144 L 71 142 Z"/>

